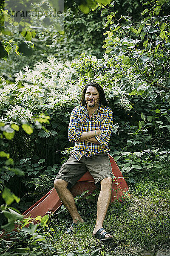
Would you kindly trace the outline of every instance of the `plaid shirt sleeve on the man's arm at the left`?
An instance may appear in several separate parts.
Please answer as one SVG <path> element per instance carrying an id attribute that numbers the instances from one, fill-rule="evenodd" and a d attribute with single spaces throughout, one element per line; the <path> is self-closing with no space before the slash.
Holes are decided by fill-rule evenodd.
<path id="1" fill-rule="evenodd" d="M 79 131 L 79 122 L 77 118 L 77 113 L 73 109 L 70 116 L 70 123 L 68 126 L 68 140 L 70 142 L 79 142 L 80 137 L 82 136 L 82 131 Z"/>

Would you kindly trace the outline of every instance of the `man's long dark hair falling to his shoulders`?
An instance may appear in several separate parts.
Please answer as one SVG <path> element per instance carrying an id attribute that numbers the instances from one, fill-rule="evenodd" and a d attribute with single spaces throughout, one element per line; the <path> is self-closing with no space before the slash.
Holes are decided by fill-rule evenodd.
<path id="1" fill-rule="evenodd" d="M 94 86 L 96 87 L 98 93 L 99 93 L 99 101 L 100 103 L 105 107 L 108 105 L 108 102 L 106 100 L 106 96 L 105 96 L 105 93 L 104 93 L 104 90 L 102 88 L 102 86 L 96 82 L 90 82 L 88 84 L 85 85 L 85 87 L 83 88 L 82 90 L 82 99 L 80 101 L 80 104 L 83 105 L 83 106 L 86 106 L 86 101 L 85 101 L 85 93 L 87 91 L 87 88 L 88 86 Z"/>

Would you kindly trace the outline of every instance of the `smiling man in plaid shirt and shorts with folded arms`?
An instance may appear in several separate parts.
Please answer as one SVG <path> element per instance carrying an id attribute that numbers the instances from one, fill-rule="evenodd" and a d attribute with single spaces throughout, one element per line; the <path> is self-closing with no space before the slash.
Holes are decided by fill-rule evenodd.
<path id="1" fill-rule="evenodd" d="M 73 224 L 66 233 L 71 233 L 74 227 L 84 222 L 69 188 L 88 170 L 94 177 L 96 186 L 101 188 L 93 236 L 102 240 L 113 239 L 102 227 L 112 192 L 113 175 L 108 157 L 112 127 L 113 113 L 107 107 L 102 87 L 96 82 L 86 84 L 80 105 L 71 113 L 68 128 L 69 141 L 75 142 L 75 146 L 54 181 L 59 198 L 73 218 Z"/>

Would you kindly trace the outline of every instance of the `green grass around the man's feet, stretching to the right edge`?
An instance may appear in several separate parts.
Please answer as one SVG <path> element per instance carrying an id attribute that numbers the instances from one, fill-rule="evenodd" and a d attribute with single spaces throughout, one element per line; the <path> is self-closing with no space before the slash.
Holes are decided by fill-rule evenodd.
<path id="1" fill-rule="evenodd" d="M 77 250 L 92 251 L 100 248 L 105 255 L 137 255 L 133 248 L 162 248 L 170 245 L 170 167 L 166 166 L 161 173 L 153 172 L 142 177 L 130 189 L 131 198 L 110 205 L 104 227 L 113 234 L 114 240 L 102 242 L 92 237 L 96 220 L 96 204 L 89 203 L 79 207 L 86 221 L 71 236 L 65 235 L 69 227 L 69 215 L 57 215 L 51 218 L 49 227 L 54 229 L 48 237 L 52 247 L 61 249 L 57 255 L 67 255 Z M 89 212 L 90 211 L 90 212 Z M 89 212 L 87 215 L 85 215 Z M 61 221 L 62 220 L 62 221 Z M 51 255 L 46 250 L 44 255 Z M 56 255 L 54 253 L 53 255 Z M 73 254 L 74 255 L 74 254 Z M 84 255 L 79 254 L 79 255 Z"/>

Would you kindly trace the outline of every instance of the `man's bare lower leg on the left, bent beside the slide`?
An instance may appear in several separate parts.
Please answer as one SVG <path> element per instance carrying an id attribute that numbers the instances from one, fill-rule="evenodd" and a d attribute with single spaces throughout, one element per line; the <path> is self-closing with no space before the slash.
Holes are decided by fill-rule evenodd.
<path id="1" fill-rule="evenodd" d="M 57 193 L 62 203 L 68 209 L 68 212 L 70 213 L 73 219 L 73 223 L 78 224 L 79 222 L 84 222 L 82 217 L 79 215 L 79 212 L 77 211 L 74 197 L 71 194 L 70 190 L 67 188 L 67 186 L 68 186 L 68 182 L 65 180 L 62 180 L 62 179 L 54 180 L 54 187 L 57 190 Z"/>

